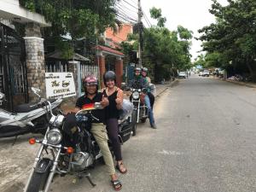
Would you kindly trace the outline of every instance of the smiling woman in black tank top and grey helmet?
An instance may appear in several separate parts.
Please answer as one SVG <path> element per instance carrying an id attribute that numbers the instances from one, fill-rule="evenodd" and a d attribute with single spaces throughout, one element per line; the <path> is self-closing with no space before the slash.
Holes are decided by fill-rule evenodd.
<path id="1" fill-rule="evenodd" d="M 107 124 L 108 137 L 113 145 L 113 154 L 117 161 L 116 168 L 119 172 L 125 174 L 127 169 L 124 166 L 121 154 L 121 146 L 118 136 L 118 119 L 119 109 L 122 108 L 124 93 L 115 86 L 116 75 L 113 71 L 108 71 L 103 75 L 103 80 L 106 88 L 103 90 L 103 94 L 108 96 L 109 105 L 105 108 L 105 118 Z"/>

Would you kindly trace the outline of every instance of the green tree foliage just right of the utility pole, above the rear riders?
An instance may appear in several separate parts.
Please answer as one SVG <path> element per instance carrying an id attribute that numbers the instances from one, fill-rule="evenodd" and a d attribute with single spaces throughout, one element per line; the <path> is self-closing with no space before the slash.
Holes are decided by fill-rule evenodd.
<path id="1" fill-rule="evenodd" d="M 184 31 L 189 30 L 183 28 Z M 184 32 L 182 31 L 182 32 Z M 192 34 L 187 34 L 186 39 L 179 39 L 183 34 L 178 31 L 171 32 L 165 27 L 151 27 L 144 31 L 143 34 L 143 56 L 150 58 L 154 66 L 154 80 L 160 81 L 165 77 L 170 78 L 173 67 L 179 70 L 190 68 L 189 49 Z"/>

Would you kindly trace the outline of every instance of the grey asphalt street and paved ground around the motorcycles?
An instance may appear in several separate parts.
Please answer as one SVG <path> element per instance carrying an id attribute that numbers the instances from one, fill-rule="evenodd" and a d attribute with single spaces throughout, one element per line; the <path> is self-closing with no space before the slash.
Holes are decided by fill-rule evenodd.
<path id="1" fill-rule="evenodd" d="M 256 89 L 197 76 L 166 86 L 154 106 L 158 129 L 147 120 L 122 148 L 128 172 L 118 173 L 121 191 L 255 192 Z M 22 165 L 32 166 L 37 149 L 27 138 L 14 146 L 13 139 L 0 140 L 0 186 L 15 181 L 1 191 L 24 187 L 29 167 Z M 14 165 L 6 164 L 8 158 Z M 5 166 L 13 172 L 4 172 Z M 56 177 L 51 191 L 113 191 L 105 171 L 102 165 L 90 170 L 94 188 L 86 178 L 67 176 Z"/>

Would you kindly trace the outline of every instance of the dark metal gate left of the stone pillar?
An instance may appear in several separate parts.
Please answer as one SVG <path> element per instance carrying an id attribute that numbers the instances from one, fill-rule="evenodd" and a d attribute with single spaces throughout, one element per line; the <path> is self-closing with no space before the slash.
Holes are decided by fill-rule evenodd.
<path id="1" fill-rule="evenodd" d="M 24 39 L 14 29 L 0 23 L 0 91 L 5 94 L 3 108 L 28 102 Z"/>

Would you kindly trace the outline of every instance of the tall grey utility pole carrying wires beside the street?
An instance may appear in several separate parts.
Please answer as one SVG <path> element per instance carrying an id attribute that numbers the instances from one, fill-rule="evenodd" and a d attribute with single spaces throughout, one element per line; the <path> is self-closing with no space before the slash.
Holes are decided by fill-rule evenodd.
<path id="1" fill-rule="evenodd" d="M 137 12 L 137 25 L 138 25 L 138 32 L 139 32 L 139 39 L 138 39 L 138 67 L 143 67 L 143 32 L 142 32 L 142 27 L 143 27 L 143 22 L 142 22 L 142 6 L 141 6 L 141 0 L 137 1 L 137 7 L 138 7 L 138 12 Z"/>

